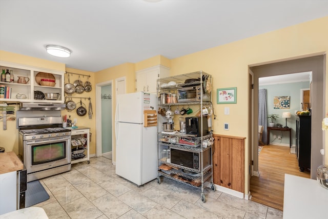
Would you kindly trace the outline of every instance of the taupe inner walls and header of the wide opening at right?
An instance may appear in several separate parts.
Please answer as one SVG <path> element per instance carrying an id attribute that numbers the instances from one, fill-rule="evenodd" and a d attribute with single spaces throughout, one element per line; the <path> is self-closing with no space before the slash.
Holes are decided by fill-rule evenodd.
<path id="1" fill-rule="evenodd" d="M 317 153 L 324 146 L 324 140 L 321 131 L 321 119 L 324 116 L 325 106 L 325 55 L 317 55 L 306 58 L 292 59 L 290 61 L 276 62 L 266 65 L 257 65 L 250 67 L 254 74 L 254 98 L 253 98 L 253 123 L 254 127 L 258 126 L 258 78 L 265 76 L 275 76 L 281 74 L 291 74 L 296 72 L 312 71 L 312 86 L 311 87 L 311 106 L 312 114 L 312 148 L 311 148 L 311 169 L 315 170 L 324 162 L 324 156 Z M 323 92 L 322 92 L 323 91 Z M 251 103 L 250 103 L 251 104 Z M 319 125 L 318 125 L 319 124 Z M 254 132 L 253 137 L 257 139 L 257 133 Z M 258 150 L 257 141 L 254 141 L 250 150 L 254 157 L 254 172 L 258 171 Z M 259 173 L 260 174 L 260 173 Z M 311 178 L 316 178 L 316 171 L 311 171 Z M 250 182 L 249 182 L 250 183 Z M 283 185 L 282 185 L 283 186 Z M 253 188 L 253 190 L 256 188 Z"/>

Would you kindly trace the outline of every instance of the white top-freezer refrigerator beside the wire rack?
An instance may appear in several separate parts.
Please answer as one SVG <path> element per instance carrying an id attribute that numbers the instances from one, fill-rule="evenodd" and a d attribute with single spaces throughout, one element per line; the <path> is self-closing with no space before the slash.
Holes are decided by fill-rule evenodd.
<path id="1" fill-rule="evenodd" d="M 156 110 L 155 94 L 117 95 L 116 174 L 144 185 L 157 177 L 157 127 L 144 127 L 144 110 Z"/>

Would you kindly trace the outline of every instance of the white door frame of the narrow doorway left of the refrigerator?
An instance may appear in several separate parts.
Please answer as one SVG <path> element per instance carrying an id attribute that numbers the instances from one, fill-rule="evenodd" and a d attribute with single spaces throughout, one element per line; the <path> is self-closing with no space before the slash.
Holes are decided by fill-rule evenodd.
<path id="1" fill-rule="evenodd" d="M 113 94 L 113 80 L 101 82 L 96 84 L 96 157 L 103 155 L 103 149 L 101 148 L 103 145 L 103 141 L 101 139 L 101 87 L 112 85 L 112 94 Z M 112 95 L 113 96 L 113 95 Z M 113 111 L 114 110 L 114 104 L 112 104 L 112 117 L 113 117 Z M 113 152 L 113 129 L 112 129 L 112 152 Z"/>

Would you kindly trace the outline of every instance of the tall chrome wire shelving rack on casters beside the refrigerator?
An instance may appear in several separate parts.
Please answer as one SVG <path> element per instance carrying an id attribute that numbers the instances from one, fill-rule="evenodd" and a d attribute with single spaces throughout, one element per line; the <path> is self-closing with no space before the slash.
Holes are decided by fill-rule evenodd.
<path id="1" fill-rule="evenodd" d="M 211 82 L 212 76 L 203 72 L 192 72 L 188 74 L 175 75 L 171 77 L 159 78 L 157 79 L 157 96 L 159 97 L 162 93 L 173 93 L 177 95 L 179 89 L 185 87 L 192 86 L 205 86 L 206 82 L 203 81 L 203 76 L 206 76 L 208 80 Z M 187 79 L 199 78 L 199 81 L 185 83 Z M 174 85 L 168 85 L 170 82 L 175 82 Z M 172 83 L 171 83 L 172 84 Z M 204 84 L 204 85 L 203 85 Z M 201 98 L 192 102 L 179 102 L 177 99 L 174 103 L 158 103 L 159 108 L 171 108 L 172 106 L 200 106 L 202 107 L 213 107 L 212 102 L 203 101 L 203 89 L 200 89 Z M 176 115 L 178 116 L 178 115 Z M 200 124 L 204 119 L 205 115 L 203 115 L 202 110 L 200 110 Z M 210 120 L 211 120 L 211 115 Z M 202 202 L 206 202 L 206 197 L 204 195 L 204 185 L 206 183 L 211 184 L 211 189 L 215 191 L 215 185 L 213 183 L 213 163 L 212 163 L 212 146 L 204 146 L 203 142 L 213 138 L 212 131 L 209 130 L 209 134 L 203 135 L 203 127 L 201 125 L 200 136 L 190 135 L 185 133 L 180 133 L 174 131 L 164 132 L 161 128 L 160 116 L 158 115 L 158 176 L 157 183 L 161 183 L 161 176 L 171 178 L 177 182 L 201 189 L 201 200 Z M 193 154 L 197 154 L 199 157 L 198 167 L 187 167 L 179 165 L 171 160 L 171 151 L 172 150 L 180 150 L 187 151 Z M 167 152 L 165 153 L 162 152 Z M 195 162 L 195 160 L 193 160 Z"/>

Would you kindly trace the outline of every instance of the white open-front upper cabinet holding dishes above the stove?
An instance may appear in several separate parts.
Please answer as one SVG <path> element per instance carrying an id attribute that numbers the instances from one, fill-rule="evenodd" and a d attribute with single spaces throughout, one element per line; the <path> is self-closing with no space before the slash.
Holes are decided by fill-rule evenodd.
<path id="1" fill-rule="evenodd" d="M 15 63 L 0 61 L 0 73 L 2 73 L 2 69 L 5 69 L 5 71 L 7 71 L 7 69 L 9 71 L 12 70 L 14 74 L 14 83 L 2 82 L 0 80 L 1 87 L 11 88 L 11 96 L 9 98 L 0 98 L 0 101 L 29 103 L 64 103 L 65 71 L 37 68 L 27 65 L 19 65 Z M 41 75 L 48 76 L 42 77 Z M 18 76 L 24 77 L 27 83 L 17 83 Z M 43 83 L 40 83 L 40 81 L 43 81 L 44 83 L 46 83 L 46 85 L 49 86 L 46 86 L 45 84 L 41 85 Z M 53 81 L 55 82 L 51 83 Z M 34 91 L 41 91 L 43 93 L 59 93 L 59 99 L 34 99 Z"/>

